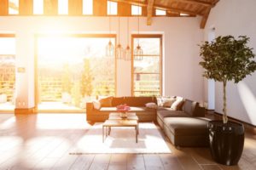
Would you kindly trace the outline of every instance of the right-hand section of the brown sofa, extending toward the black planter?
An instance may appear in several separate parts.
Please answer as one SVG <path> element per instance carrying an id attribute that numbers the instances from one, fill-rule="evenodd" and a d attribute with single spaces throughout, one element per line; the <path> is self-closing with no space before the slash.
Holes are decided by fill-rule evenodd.
<path id="1" fill-rule="evenodd" d="M 177 146 L 207 146 L 209 121 L 205 117 L 205 108 L 189 99 L 185 99 L 182 111 L 170 108 L 157 110 L 158 124 Z"/>

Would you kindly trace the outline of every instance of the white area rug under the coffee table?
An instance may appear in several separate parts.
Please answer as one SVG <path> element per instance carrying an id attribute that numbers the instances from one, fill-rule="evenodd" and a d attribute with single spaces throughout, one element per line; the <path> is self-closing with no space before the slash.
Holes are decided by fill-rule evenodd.
<path id="1" fill-rule="evenodd" d="M 139 124 L 136 143 L 134 127 L 113 127 L 102 143 L 102 123 L 96 123 L 77 143 L 70 154 L 89 153 L 172 153 L 153 122 Z"/>

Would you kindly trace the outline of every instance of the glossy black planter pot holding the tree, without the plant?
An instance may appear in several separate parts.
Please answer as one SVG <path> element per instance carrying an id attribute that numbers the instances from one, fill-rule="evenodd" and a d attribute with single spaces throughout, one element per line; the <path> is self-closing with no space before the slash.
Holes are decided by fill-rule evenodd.
<path id="1" fill-rule="evenodd" d="M 236 165 L 244 144 L 244 127 L 238 122 L 208 123 L 212 158 L 224 165 Z"/>

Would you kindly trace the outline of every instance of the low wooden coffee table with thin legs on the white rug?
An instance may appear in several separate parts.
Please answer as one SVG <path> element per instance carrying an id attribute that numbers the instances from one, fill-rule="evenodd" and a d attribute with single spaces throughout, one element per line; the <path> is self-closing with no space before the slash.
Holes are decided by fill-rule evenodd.
<path id="1" fill-rule="evenodd" d="M 137 143 L 138 135 L 138 117 L 136 113 L 128 113 L 126 118 L 119 116 L 119 113 L 110 113 L 108 120 L 105 121 L 102 125 L 102 142 L 104 139 L 110 135 L 111 127 L 134 127 L 135 128 L 135 138 Z"/>

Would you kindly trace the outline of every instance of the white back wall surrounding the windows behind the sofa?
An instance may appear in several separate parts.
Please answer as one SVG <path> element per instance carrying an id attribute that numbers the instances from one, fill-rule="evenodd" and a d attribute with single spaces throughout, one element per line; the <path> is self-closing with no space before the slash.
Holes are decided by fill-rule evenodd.
<path id="1" fill-rule="evenodd" d="M 180 95 L 203 102 L 202 69 L 198 62 L 199 44 L 203 31 L 200 18 L 156 17 L 152 26 L 146 26 L 141 18 L 140 33 L 163 35 L 163 93 Z M 17 67 L 25 67 L 25 73 L 17 73 L 17 101 L 34 106 L 34 35 L 42 32 L 55 33 L 108 33 L 106 17 L 72 16 L 8 16 L 0 17 L 0 33 L 14 31 L 17 38 Z M 120 18 L 120 42 L 126 47 L 126 18 Z M 118 32 L 118 18 L 112 17 L 112 33 Z M 137 33 L 137 18 L 130 18 L 130 34 Z M 131 42 L 131 40 L 130 40 Z M 130 45 L 131 47 L 131 45 Z M 125 78 L 124 78 L 125 77 Z M 117 63 L 117 95 L 131 95 L 131 62 Z"/>

